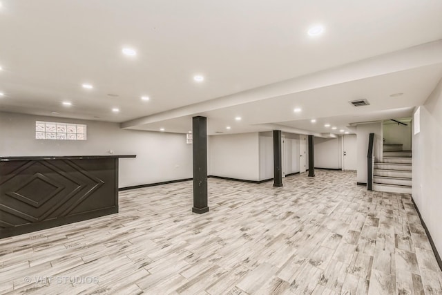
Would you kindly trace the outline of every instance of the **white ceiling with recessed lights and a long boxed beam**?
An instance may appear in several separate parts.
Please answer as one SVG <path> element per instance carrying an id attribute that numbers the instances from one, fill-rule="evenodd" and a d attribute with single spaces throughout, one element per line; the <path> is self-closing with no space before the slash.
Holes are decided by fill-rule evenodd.
<path id="1" fill-rule="evenodd" d="M 324 133 L 325 121 L 410 115 L 442 77 L 442 42 L 421 45 L 442 39 L 440 0 L 0 1 L 0 111 L 180 133 L 206 115 L 213 134 Z M 325 31 L 309 37 L 316 23 Z M 372 104 L 347 103 L 360 97 Z"/>

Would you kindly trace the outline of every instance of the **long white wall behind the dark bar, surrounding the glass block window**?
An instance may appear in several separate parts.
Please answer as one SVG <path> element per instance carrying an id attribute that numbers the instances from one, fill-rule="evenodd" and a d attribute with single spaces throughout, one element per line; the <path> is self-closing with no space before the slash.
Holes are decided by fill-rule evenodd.
<path id="1" fill-rule="evenodd" d="M 87 124 L 86 141 L 36 140 L 35 121 Z M 192 145 L 186 135 L 120 129 L 119 124 L 0 113 L 0 155 L 115 155 L 119 187 L 192 178 Z"/>

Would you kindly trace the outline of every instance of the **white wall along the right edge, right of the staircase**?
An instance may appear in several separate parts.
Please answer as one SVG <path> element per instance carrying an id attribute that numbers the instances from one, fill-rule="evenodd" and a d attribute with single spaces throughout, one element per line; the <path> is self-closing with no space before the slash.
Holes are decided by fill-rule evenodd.
<path id="1" fill-rule="evenodd" d="M 421 106 L 421 132 L 413 135 L 412 196 L 442 254 L 442 80 Z"/>

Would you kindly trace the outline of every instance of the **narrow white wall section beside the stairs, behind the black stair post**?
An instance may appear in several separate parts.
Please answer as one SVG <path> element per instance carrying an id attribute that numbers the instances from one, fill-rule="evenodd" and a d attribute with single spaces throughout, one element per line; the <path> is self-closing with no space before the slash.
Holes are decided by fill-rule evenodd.
<path id="1" fill-rule="evenodd" d="M 374 133 L 374 158 L 376 162 L 382 162 L 383 131 L 382 123 L 359 124 L 356 127 L 357 149 L 357 182 L 367 182 L 367 152 L 369 133 Z"/>

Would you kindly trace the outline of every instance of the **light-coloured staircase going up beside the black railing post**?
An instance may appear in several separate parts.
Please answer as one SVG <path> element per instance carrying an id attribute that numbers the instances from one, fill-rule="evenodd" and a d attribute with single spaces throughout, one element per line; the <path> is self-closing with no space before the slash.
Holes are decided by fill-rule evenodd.
<path id="1" fill-rule="evenodd" d="M 384 144 L 383 162 L 374 163 L 373 190 L 412 193 L 412 151 L 402 144 Z"/>

